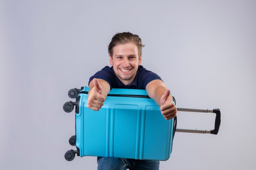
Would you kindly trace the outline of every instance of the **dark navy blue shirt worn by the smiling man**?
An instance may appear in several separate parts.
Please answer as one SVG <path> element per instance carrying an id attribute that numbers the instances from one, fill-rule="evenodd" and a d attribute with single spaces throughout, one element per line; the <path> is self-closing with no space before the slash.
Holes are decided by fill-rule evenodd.
<path id="1" fill-rule="evenodd" d="M 111 88 L 132 88 L 132 89 L 146 89 L 149 82 L 155 79 L 161 79 L 156 73 L 146 70 L 143 66 L 139 66 L 134 80 L 130 85 L 124 85 L 114 72 L 113 66 L 110 68 L 106 66 L 101 71 L 95 73 L 90 77 L 89 84 L 92 79 L 98 78 L 107 81 Z"/>

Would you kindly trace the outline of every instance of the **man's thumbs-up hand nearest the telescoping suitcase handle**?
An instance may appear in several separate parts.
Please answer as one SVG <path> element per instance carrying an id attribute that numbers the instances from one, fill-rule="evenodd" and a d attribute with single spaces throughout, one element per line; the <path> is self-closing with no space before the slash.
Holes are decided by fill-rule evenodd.
<path id="1" fill-rule="evenodd" d="M 160 110 L 166 120 L 176 117 L 177 108 L 170 96 L 170 90 L 166 90 L 160 98 Z"/>

